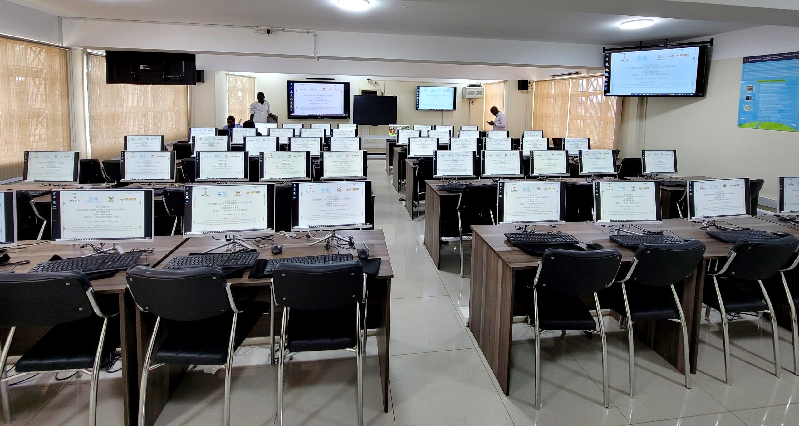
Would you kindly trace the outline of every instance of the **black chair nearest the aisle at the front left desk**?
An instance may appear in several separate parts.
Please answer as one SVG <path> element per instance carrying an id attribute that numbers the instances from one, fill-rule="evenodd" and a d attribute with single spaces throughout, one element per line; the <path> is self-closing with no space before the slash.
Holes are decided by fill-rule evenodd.
<path id="1" fill-rule="evenodd" d="M 283 426 L 286 350 L 288 353 L 336 349 L 354 351 L 358 364 L 358 424 L 364 424 L 361 340 L 365 337 L 366 313 L 362 321 L 361 305 L 366 306 L 367 294 L 366 274 L 360 262 L 330 265 L 280 263 L 272 278 L 272 297 L 276 306 L 284 307 L 277 357 L 277 426 Z"/>

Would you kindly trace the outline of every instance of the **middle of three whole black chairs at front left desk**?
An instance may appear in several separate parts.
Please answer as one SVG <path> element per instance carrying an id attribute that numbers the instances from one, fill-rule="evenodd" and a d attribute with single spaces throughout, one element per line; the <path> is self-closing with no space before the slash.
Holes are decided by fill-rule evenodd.
<path id="1" fill-rule="evenodd" d="M 219 266 L 183 270 L 134 266 L 128 270 L 127 282 L 139 310 L 156 316 L 141 369 L 139 425 L 145 424 L 149 372 L 165 364 L 224 366 L 224 424 L 229 425 L 233 353 L 268 306 L 248 301 L 244 310 L 233 300 Z M 161 318 L 166 320 L 168 333 L 156 348 Z"/>

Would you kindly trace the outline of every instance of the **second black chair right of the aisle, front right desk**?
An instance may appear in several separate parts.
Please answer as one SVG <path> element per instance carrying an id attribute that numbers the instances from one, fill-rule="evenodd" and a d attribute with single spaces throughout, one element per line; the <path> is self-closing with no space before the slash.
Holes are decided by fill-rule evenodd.
<path id="1" fill-rule="evenodd" d="M 682 244 L 642 244 L 635 251 L 629 270 L 622 268 L 616 281 L 599 292 L 602 306 L 610 307 L 626 323 L 630 362 L 630 396 L 635 396 L 635 360 L 633 357 L 633 323 L 635 321 L 670 320 L 682 326 L 682 361 L 685 365 L 686 388 L 691 389 L 688 328 L 674 284 L 682 282 L 697 270 L 705 254 L 705 244 L 690 240 Z M 668 289 L 666 287 L 669 287 Z"/>

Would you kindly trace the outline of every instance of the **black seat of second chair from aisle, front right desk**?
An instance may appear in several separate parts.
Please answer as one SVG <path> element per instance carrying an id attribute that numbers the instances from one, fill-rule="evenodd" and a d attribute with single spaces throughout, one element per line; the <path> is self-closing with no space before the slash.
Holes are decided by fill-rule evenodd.
<path id="1" fill-rule="evenodd" d="M 633 282 L 626 285 L 626 290 L 632 321 L 680 318 L 670 286 L 642 286 Z M 621 283 L 617 282 L 600 291 L 599 301 L 602 302 L 602 308 L 610 308 L 622 317 L 627 316 Z"/>

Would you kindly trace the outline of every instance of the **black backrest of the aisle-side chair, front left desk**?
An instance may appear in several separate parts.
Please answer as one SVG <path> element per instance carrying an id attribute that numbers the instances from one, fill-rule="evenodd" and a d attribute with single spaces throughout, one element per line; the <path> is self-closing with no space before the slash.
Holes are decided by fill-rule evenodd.
<path id="1" fill-rule="evenodd" d="M 298 310 L 354 305 L 364 298 L 364 268 L 357 260 L 327 265 L 282 262 L 272 272 L 272 291 L 277 305 Z"/>

